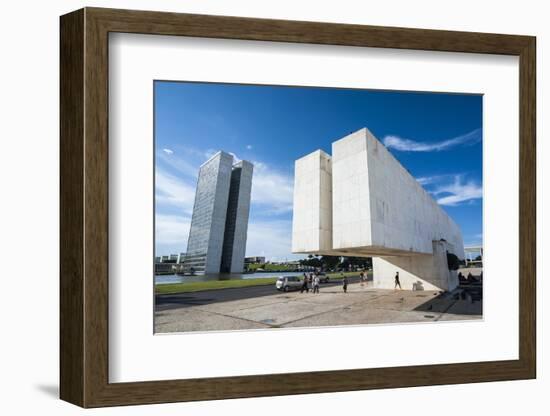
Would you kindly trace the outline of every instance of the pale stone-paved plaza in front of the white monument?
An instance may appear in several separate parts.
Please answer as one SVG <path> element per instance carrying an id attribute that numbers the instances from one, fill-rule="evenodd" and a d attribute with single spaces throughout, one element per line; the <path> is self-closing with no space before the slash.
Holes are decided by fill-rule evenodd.
<path id="1" fill-rule="evenodd" d="M 222 289 L 222 291 L 242 289 Z M 155 311 L 155 332 L 231 331 L 340 325 L 430 323 L 480 319 L 482 302 L 426 290 L 376 289 L 373 282 L 322 286 L 319 294 L 276 292 L 228 301 L 217 294 L 166 295 Z M 172 296 L 171 300 L 169 297 Z M 171 303 L 173 302 L 173 303 Z"/>

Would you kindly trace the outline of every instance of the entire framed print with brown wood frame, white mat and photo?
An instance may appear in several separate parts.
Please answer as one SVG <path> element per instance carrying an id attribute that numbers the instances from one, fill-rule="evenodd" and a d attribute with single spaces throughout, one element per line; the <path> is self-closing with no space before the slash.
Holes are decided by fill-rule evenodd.
<path id="1" fill-rule="evenodd" d="M 61 17 L 83 407 L 536 376 L 535 38 Z"/>

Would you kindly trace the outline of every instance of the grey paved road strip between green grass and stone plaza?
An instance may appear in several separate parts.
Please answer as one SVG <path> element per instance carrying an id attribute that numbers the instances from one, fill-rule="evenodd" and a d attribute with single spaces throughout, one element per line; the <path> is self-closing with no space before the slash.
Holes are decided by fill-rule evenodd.
<path id="1" fill-rule="evenodd" d="M 359 277 L 348 277 L 349 283 L 359 282 Z M 341 285 L 341 280 L 334 280 L 329 283 L 321 283 L 320 291 L 324 287 Z M 249 286 L 229 289 L 203 290 L 200 292 L 188 292 L 178 294 L 155 295 L 155 310 L 166 311 L 170 309 L 185 308 L 189 306 L 208 305 L 216 302 L 228 302 L 232 300 L 250 299 L 260 296 L 277 294 L 275 284 L 261 286 Z"/>

